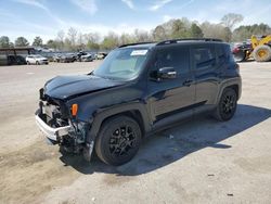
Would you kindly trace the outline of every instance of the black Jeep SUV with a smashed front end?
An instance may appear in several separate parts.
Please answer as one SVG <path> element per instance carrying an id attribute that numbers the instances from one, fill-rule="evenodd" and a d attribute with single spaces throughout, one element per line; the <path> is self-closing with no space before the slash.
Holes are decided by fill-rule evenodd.
<path id="1" fill-rule="evenodd" d="M 95 71 L 57 76 L 40 89 L 36 122 L 61 149 L 92 150 L 121 165 L 142 139 L 196 114 L 233 117 L 241 97 L 238 65 L 218 39 L 125 44 Z"/>

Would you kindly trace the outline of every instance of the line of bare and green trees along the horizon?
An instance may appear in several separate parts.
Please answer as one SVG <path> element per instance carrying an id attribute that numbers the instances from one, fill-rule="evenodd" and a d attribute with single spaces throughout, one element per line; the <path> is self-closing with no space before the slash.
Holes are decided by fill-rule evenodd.
<path id="1" fill-rule="evenodd" d="M 160 41 L 177 38 L 219 38 L 227 42 L 245 41 L 251 35 L 270 35 L 271 27 L 267 24 L 238 25 L 244 17 L 241 14 L 229 13 L 224 15 L 220 23 L 210 22 L 197 23 L 185 17 L 170 20 L 156 26 L 151 31 L 136 29 L 132 34 L 116 34 L 109 31 L 103 38 L 99 33 L 81 34 L 77 29 L 70 27 L 66 33 L 61 30 L 55 39 L 47 42 L 37 36 L 31 46 L 43 47 L 60 51 L 77 51 L 77 50 L 111 50 L 120 44 Z M 236 27 L 235 29 L 233 29 Z M 8 36 L 0 37 L 0 48 L 27 47 L 30 46 L 25 37 L 18 37 L 11 42 Z"/>

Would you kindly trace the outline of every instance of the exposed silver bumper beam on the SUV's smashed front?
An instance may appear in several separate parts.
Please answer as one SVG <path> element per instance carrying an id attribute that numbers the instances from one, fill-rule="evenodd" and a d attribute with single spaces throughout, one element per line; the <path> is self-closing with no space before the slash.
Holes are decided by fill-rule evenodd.
<path id="1" fill-rule="evenodd" d="M 35 115 L 36 124 L 42 133 L 51 141 L 57 142 L 60 137 L 68 135 L 70 130 L 70 126 L 64 126 L 59 128 L 52 128 L 47 125 L 39 116 L 39 114 Z"/>

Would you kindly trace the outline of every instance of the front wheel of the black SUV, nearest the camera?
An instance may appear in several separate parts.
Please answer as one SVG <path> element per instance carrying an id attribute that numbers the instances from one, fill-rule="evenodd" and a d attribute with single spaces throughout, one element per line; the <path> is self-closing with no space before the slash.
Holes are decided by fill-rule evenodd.
<path id="1" fill-rule="evenodd" d="M 98 157 L 106 164 L 122 165 L 137 154 L 141 143 L 139 124 L 127 116 L 106 120 L 95 141 Z"/>

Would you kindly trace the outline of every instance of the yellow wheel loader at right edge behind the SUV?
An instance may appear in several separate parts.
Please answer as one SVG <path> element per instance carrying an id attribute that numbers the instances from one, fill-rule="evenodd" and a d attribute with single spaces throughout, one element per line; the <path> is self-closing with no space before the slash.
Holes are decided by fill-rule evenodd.
<path id="1" fill-rule="evenodd" d="M 257 62 L 268 62 L 271 60 L 271 35 L 257 38 L 251 36 L 250 43 L 244 43 L 233 49 L 236 61 L 247 61 L 253 58 Z"/>

